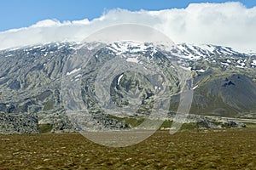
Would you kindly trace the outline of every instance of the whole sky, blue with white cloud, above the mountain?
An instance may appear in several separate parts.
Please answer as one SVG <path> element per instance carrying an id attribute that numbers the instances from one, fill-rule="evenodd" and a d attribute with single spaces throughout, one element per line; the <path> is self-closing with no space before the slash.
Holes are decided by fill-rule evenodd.
<path id="1" fill-rule="evenodd" d="M 256 52 L 256 1 L 1 0 L 0 49 L 81 42 L 117 24 L 150 26 L 173 42 Z"/>

